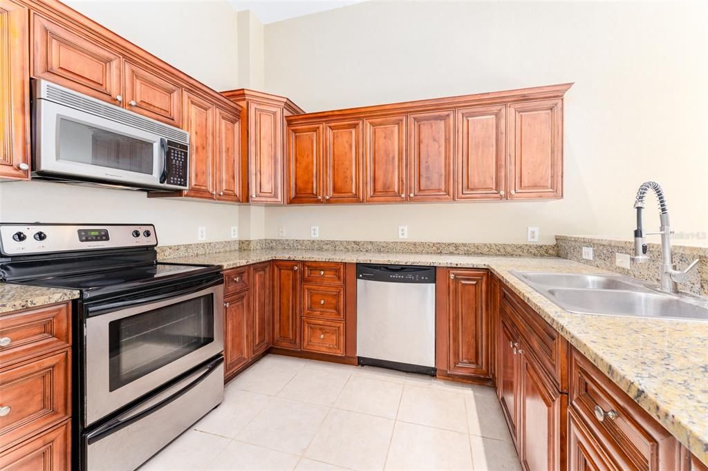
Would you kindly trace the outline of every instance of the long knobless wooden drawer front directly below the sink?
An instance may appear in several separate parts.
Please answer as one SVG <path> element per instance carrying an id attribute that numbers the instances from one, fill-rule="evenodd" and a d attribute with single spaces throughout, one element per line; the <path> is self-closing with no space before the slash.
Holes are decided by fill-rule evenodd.
<path id="1" fill-rule="evenodd" d="M 502 286 L 500 315 L 507 316 L 524 337 L 527 349 L 549 374 L 556 388 L 568 390 L 568 342 L 507 286 Z"/>

